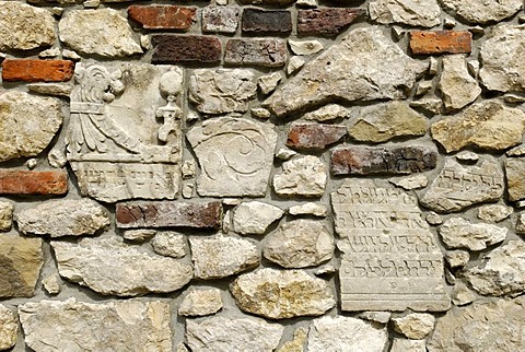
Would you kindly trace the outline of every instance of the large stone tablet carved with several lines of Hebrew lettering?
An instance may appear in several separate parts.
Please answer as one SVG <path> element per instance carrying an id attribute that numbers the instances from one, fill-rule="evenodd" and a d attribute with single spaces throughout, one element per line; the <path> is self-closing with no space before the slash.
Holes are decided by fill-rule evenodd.
<path id="1" fill-rule="evenodd" d="M 349 179 L 331 203 L 341 237 L 342 310 L 448 309 L 443 255 L 415 197 Z"/>

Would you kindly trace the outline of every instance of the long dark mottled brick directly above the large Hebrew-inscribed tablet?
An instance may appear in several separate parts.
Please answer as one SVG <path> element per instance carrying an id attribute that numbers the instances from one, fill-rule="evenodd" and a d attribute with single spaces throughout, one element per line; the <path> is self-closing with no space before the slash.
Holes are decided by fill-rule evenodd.
<path id="1" fill-rule="evenodd" d="M 438 151 L 428 146 L 350 146 L 331 152 L 332 175 L 410 174 L 435 168 Z"/>

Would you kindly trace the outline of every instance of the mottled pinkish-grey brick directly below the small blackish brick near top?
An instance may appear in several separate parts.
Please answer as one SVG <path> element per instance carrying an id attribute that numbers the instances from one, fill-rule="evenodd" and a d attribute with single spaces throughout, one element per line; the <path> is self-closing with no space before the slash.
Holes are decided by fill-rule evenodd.
<path id="1" fill-rule="evenodd" d="M 282 67 L 287 45 L 279 39 L 230 39 L 224 61 L 232 64 Z"/>

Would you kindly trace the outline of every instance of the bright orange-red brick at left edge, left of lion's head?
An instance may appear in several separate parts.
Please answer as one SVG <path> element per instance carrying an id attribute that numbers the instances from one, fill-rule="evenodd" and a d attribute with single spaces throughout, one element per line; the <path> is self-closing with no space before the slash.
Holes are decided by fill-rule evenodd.
<path id="1" fill-rule="evenodd" d="M 69 60 L 5 59 L 3 81 L 65 82 L 71 80 L 74 62 Z"/>

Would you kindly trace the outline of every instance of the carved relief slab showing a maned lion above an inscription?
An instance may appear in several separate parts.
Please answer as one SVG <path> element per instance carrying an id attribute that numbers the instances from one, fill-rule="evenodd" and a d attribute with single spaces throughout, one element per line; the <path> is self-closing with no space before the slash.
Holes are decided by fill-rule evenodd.
<path id="1" fill-rule="evenodd" d="M 78 64 L 74 80 L 67 156 L 82 195 L 107 202 L 174 199 L 183 117 L 176 101 L 183 70 L 124 64 L 112 71 Z"/>

